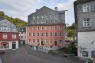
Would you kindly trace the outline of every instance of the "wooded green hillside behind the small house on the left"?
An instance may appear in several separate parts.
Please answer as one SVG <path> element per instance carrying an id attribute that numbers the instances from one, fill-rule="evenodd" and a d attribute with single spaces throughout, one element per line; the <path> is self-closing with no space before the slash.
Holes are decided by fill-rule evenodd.
<path id="1" fill-rule="evenodd" d="M 12 17 L 7 16 L 3 11 L 0 11 L 0 17 L 3 17 L 5 19 L 9 20 L 11 23 L 16 25 L 17 27 L 24 26 L 27 24 L 27 22 L 25 22 L 19 18 L 12 18 Z"/>

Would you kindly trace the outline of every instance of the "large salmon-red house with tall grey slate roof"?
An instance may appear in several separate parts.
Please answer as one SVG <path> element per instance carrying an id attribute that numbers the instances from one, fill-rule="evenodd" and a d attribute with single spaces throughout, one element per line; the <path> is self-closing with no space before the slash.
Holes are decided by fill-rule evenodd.
<path id="1" fill-rule="evenodd" d="M 26 44 L 34 50 L 43 52 L 64 47 L 65 43 L 65 11 L 50 9 L 46 6 L 37 9 L 28 16 L 26 27 Z"/>

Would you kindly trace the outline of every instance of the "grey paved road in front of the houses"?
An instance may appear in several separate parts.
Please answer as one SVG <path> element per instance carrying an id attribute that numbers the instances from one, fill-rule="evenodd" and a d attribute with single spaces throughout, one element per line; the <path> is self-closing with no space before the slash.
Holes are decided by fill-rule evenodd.
<path id="1" fill-rule="evenodd" d="M 82 63 L 76 58 L 52 56 L 46 53 L 32 51 L 22 46 L 18 50 L 7 50 L 1 56 L 2 63 Z"/>

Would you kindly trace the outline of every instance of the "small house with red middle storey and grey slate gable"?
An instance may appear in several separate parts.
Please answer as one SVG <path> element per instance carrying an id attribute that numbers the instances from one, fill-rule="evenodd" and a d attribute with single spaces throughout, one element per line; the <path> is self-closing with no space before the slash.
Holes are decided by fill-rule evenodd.
<path id="1" fill-rule="evenodd" d="M 0 20 L 0 49 L 17 49 L 19 34 L 16 26 L 6 19 Z"/>

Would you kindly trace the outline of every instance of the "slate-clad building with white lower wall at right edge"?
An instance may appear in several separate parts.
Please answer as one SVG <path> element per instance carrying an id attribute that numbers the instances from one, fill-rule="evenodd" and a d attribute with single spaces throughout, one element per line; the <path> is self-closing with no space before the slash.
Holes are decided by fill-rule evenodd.
<path id="1" fill-rule="evenodd" d="M 77 24 L 78 56 L 95 58 L 95 0 L 74 2 Z"/>

